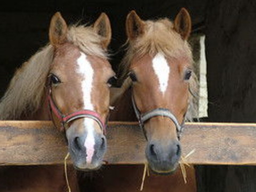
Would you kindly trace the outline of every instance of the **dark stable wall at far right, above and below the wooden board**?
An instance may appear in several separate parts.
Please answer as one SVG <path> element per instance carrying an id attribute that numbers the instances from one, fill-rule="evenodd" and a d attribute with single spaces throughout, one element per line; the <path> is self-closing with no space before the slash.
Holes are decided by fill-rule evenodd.
<path id="1" fill-rule="evenodd" d="M 205 48 L 210 122 L 256 122 L 255 10 L 255 1 L 208 1 Z M 256 191 L 255 166 L 197 168 L 199 192 Z"/>

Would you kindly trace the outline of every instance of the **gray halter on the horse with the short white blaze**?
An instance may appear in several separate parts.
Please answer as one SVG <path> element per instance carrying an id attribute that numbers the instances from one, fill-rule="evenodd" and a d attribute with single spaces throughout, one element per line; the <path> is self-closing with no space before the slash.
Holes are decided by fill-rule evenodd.
<path id="1" fill-rule="evenodd" d="M 136 105 L 136 103 L 135 103 L 135 100 L 133 98 L 133 94 L 132 94 L 132 106 L 133 106 L 135 114 L 138 118 L 140 127 L 143 129 L 143 131 L 144 131 L 144 122 L 148 121 L 148 119 L 150 119 L 152 117 L 156 117 L 156 116 L 164 116 L 164 117 L 170 118 L 172 120 L 172 122 L 176 125 L 178 138 L 180 138 L 180 134 L 183 130 L 183 125 L 185 123 L 186 114 L 185 114 L 181 124 L 179 124 L 177 118 L 171 113 L 171 111 L 169 109 L 166 109 L 166 108 L 156 108 L 156 109 L 150 110 L 150 111 L 148 111 L 144 114 L 141 114 L 137 105 Z"/>

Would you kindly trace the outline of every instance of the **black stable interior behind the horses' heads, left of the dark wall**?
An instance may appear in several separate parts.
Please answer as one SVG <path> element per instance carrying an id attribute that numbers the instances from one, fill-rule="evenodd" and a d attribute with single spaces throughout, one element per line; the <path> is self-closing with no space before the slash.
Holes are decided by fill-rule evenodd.
<path id="1" fill-rule="evenodd" d="M 3 95 L 14 70 L 48 42 L 52 15 L 60 11 L 68 24 L 92 24 L 101 12 L 108 14 L 113 31 L 109 46 L 111 64 L 116 70 L 126 41 L 125 18 L 136 10 L 142 19 L 173 18 L 182 6 L 191 13 L 194 26 L 202 26 L 205 3 L 200 1 L 120 1 L 120 0 L 44 0 L 2 1 L 0 5 L 0 95 Z M 197 5 L 197 6 L 195 6 Z M 198 27 L 196 27 L 198 28 Z"/>

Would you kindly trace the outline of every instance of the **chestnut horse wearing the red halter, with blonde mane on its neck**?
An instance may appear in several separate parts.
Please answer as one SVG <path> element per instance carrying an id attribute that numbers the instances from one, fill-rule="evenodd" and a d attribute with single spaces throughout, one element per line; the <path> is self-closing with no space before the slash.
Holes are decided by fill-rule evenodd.
<path id="1" fill-rule="evenodd" d="M 107 55 L 109 19 L 102 13 L 92 26 L 68 27 L 57 12 L 49 39 L 49 45 L 16 71 L 0 103 L 0 118 L 51 119 L 66 131 L 76 169 L 98 169 L 107 147 L 109 87 L 115 76 Z M 66 190 L 63 166 L 11 166 L 0 171 L 1 191 Z M 72 191 L 78 191 L 75 171 L 69 173 Z"/>

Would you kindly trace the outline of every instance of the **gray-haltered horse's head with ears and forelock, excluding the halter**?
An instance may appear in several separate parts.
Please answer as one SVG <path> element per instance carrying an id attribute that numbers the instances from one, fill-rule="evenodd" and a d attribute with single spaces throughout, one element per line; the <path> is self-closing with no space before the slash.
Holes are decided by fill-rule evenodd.
<path id="1" fill-rule="evenodd" d="M 130 47 L 134 47 L 130 77 L 133 97 L 141 114 L 165 108 L 182 124 L 188 108 L 191 76 L 190 50 L 185 46 L 190 28 L 190 17 L 185 9 L 177 15 L 174 24 L 166 19 L 142 21 L 134 11 L 127 16 L 126 33 Z M 174 54 L 177 50 L 180 53 Z M 151 117 L 144 122 L 144 131 L 148 141 L 146 157 L 151 169 L 163 174 L 175 171 L 181 146 L 172 119 Z"/>

